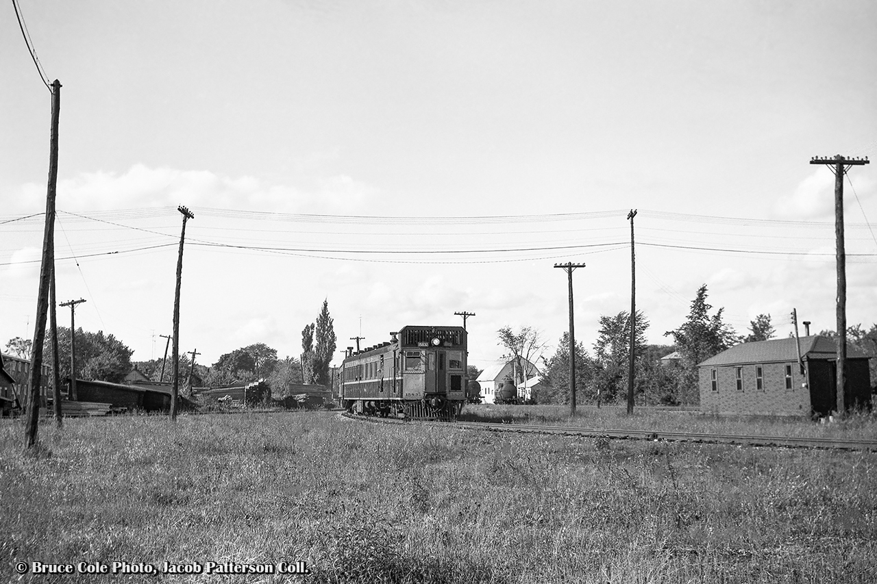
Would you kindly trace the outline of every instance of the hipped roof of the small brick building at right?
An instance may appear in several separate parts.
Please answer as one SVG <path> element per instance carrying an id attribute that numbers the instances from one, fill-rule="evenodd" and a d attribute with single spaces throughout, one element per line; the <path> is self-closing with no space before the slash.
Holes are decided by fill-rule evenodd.
<path id="1" fill-rule="evenodd" d="M 813 335 L 801 338 L 803 359 L 833 360 L 838 344 L 833 338 Z M 870 356 L 855 345 L 846 345 L 847 359 L 868 359 Z M 745 365 L 748 363 L 779 363 L 798 360 L 795 338 L 772 338 L 766 341 L 740 343 L 703 361 L 698 367 Z"/>

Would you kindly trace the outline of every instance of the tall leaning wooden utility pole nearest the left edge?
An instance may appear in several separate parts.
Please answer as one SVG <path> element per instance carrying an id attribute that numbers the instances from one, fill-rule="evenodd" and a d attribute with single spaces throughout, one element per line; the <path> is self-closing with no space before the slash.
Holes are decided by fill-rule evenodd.
<path id="1" fill-rule="evenodd" d="M 46 341 L 46 312 L 48 310 L 49 282 L 54 266 L 55 195 L 58 184 L 58 120 L 61 117 L 61 82 L 52 83 L 52 134 L 49 138 L 49 178 L 46 188 L 46 228 L 43 231 L 43 258 L 39 264 L 39 292 L 37 319 L 34 323 L 31 348 L 30 399 L 25 414 L 25 449 L 37 444 L 39 424 L 39 387 L 42 381 L 43 343 Z"/>

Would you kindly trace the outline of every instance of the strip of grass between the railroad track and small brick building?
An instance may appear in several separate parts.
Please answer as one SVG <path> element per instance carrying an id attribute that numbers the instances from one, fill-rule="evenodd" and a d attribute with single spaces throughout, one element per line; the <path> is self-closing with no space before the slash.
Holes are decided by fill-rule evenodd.
<path id="1" fill-rule="evenodd" d="M 877 410 L 871 414 L 852 414 L 844 420 L 814 423 L 803 417 L 734 417 L 701 414 L 697 410 L 667 410 L 637 407 L 633 416 L 626 406 L 579 407 L 576 417 L 569 416 L 569 406 L 467 405 L 461 419 L 502 422 L 608 428 L 618 430 L 688 431 L 704 434 L 743 436 L 788 436 L 807 438 L 877 439 Z"/>

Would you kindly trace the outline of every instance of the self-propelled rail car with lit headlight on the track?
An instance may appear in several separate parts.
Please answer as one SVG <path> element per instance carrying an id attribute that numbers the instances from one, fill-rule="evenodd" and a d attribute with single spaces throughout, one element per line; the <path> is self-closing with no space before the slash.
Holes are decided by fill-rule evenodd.
<path id="1" fill-rule="evenodd" d="M 389 342 L 347 348 L 339 371 L 346 410 L 381 417 L 453 420 L 466 402 L 466 330 L 404 326 Z"/>

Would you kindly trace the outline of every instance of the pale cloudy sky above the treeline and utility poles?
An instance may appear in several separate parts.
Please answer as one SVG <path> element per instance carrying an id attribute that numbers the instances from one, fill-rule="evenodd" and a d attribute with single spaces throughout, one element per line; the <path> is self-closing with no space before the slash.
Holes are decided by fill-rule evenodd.
<path id="1" fill-rule="evenodd" d="M 59 303 L 132 360 L 353 337 L 567 330 L 636 303 L 669 344 L 697 288 L 745 334 L 835 329 L 834 182 L 877 153 L 868 0 L 18 0 L 61 82 Z M 51 94 L 0 8 L 0 345 L 33 338 Z M 847 321 L 877 322 L 877 167 L 845 181 Z M 58 310 L 69 324 L 69 310 Z"/>

